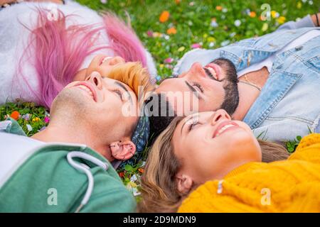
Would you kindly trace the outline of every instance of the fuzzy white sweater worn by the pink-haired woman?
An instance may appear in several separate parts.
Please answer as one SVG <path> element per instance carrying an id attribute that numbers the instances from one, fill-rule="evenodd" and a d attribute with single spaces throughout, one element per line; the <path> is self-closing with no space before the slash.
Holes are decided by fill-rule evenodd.
<path id="1" fill-rule="evenodd" d="M 38 13 L 36 7 L 41 6 L 44 9 L 52 9 L 52 7 L 58 7 L 65 16 L 75 15 L 66 20 L 66 26 L 72 24 L 76 25 L 93 25 L 102 26 L 104 23 L 102 17 L 98 15 L 96 11 L 82 6 L 75 1 L 66 1 L 66 4 L 52 4 L 46 2 L 22 2 L 20 4 L 14 4 L 6 9 L 2 9 L 0 12 L 0 104 L 4 104 L 6 101 L 15 101 L 21 99 L 25 101 L 36 102 L 36 96 L 28 90 L 28 87 L 24 87 L 25 91 L 21 88 L 14 87 L 14 75 L 18 68 L 18 61 L 20 60 L 23 50 L 25 50 L 28 44 L 28 38 L 31 33 L 28 28 L 33 28 L 36 25 Z M 22 24 L 21 24 L 22 23 Z M 25 26 L 23 26 L 23 24 Z M 92 26 L 93 27 L 93 26 Z M 107 45 L 109 38 L 107 33 L 101 32 L 95 45 Z M 114 52 L 110 49 L 102 49 L 93 52 L 91 55 L 85 57 L 82 63 L 81 69 L 89 66 L 92 58 L 97 54 L 103 54 L 107 56 L 114 56 Z M 32 50 L 31 50 L 32 55 Z M 156 67 L 149 52 L 146 51 L 146 62 L 151 77 L 156 77 Z M 33 63 L 22 63 L 23 76 L 28 80 L 28 84 L 31 85 L 33 90 L 38 89 L 38 79 L 35 67 Z M 80 69 L 80 70 L 81 70 Z M 19 77 L 20 78 L 20 77 Z"/>

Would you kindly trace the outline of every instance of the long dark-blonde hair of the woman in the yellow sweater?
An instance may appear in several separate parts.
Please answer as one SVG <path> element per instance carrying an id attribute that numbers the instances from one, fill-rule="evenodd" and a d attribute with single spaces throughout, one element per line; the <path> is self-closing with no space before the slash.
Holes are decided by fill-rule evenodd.
<path id="1" fill-rule="evenodd" d="M 146 168 L 142 175 L 142 201 L 138 204 L 140 212 L 176 212 L 181 201 L 198 185 L 193 185 L 190 192 L 181 194 L 176 185 L 176 174 L 181 162 L 174 154 L 172 138 L 174 130 L 183 117 L 176 117 L 156 139 Z M 289 156 L 287 150 L 277 143 L 258 140 L 262 150 L 262 162 L 284 160 Z"/>

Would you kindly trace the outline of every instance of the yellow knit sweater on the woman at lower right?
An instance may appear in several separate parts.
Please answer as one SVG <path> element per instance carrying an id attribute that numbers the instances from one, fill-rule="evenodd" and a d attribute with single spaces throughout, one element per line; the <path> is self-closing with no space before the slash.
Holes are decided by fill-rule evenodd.
<path id="1" fill-rule="evenodd" d="M 288 160 L 250 162 L 198 187 L 178 212 L 320 212 L 320 134 Z"/>

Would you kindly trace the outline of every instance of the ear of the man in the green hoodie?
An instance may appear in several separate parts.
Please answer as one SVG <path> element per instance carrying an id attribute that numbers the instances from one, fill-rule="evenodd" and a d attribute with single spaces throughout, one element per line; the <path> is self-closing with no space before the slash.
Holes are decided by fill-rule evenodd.
<path id="1" fill-rule="evenodd" d="M 117 160 L 128 160 L 136 153 L 136 149 L 131 140 L 120 140 L 110 144 L 111 155 Z"/>

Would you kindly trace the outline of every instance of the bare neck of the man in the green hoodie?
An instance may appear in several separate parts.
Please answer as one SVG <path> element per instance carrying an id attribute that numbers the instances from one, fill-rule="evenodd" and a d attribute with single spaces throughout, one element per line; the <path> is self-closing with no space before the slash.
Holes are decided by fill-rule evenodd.
<path id="1" fill-rule="evenodd" d="M 70 126 L 66 123 L 55 123 L 51 121 L 43 131 L 32 136 L 33 139 L 46 143 L 80 143 L 95 150 L 100 155 L 112 161 L 111 151 L 108 143 L 102 143 L 99 136 L 90 135 L 90 129 L 86 126 Z"/>

